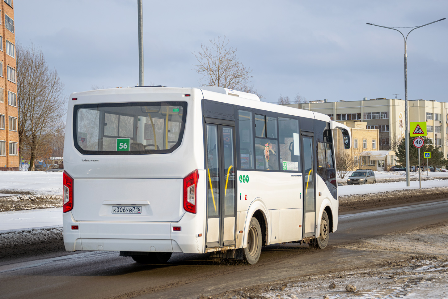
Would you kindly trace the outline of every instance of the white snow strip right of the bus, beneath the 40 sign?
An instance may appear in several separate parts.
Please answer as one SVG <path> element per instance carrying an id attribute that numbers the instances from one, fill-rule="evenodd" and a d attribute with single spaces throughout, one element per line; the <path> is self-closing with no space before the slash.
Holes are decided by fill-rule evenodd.
<path id="1" fill-rule="evenodd" d="M 448 187 L 448 180 L 429 180 L 422 181 L 422 189 L 433 187 Z M 410 186 L 406 186 L 406 182 L 376 183 L 367 185 L 347 185 L 338 186 L 339 196 L 353 194 L 369 194 L 384 191 L 396 191 L 406 189 L 418 189 L 419 182 L 410 182 Z"/>

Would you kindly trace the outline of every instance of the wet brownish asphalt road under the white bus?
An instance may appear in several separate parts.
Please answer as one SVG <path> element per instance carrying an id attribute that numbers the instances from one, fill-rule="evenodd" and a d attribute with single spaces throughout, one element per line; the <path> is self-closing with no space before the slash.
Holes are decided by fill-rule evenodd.
<path id="1" fill-rule="evenodd" d="M 381 254 L 335 245 L 398 230 L 448 221 L 448 200 L 340 215 L 329 246 L 274 244 L 255 265 L 173 254 L 168 265 L 143 265 L 118 252 L 81 252 L 0 266 L 0 298 L 197 298 L 224 290 L 352 267 L 353 260 L 375 263 Z M 327 272 L 328 273 L 328 272 Z"/>

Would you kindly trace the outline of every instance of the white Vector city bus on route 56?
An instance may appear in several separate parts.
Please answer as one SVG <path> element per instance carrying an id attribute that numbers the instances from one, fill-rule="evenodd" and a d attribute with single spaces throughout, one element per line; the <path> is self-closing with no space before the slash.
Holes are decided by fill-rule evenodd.
<path id="1" fill-rule="evenodd" d="M 337 228 L 326 115 L 222 87 L 73 93 L 64 147 L 67 251 L 257 262 L 262 246 L 325 248 Z"/>

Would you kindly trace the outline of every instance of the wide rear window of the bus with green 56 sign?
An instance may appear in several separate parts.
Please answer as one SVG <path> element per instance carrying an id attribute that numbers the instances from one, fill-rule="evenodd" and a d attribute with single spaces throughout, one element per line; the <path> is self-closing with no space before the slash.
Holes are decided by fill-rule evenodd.
<path id="1" fill-rule="evenodd" d="M 90 155 L 163 154 L 182 141 L 186 102 L 75 105 L 73 136 Z"/>

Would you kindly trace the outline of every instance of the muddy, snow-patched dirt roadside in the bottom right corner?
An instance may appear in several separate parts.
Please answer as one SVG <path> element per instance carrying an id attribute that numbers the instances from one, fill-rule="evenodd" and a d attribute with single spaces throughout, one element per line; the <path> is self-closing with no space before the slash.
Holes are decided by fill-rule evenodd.
<path id="1" fill-rule="evenodd" d="M 336 248 L 380 253 L 387 258 L 400 253 L 400 260 L 386 260 L 352 270 L 325 271 L 289 281 L 252 286 L 198 299 L 302 299 L 302 298 L 448 298 L 448 223 L 413 231 L 368 238 Z"/>

